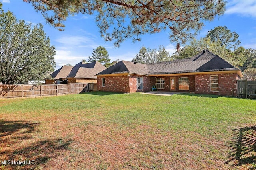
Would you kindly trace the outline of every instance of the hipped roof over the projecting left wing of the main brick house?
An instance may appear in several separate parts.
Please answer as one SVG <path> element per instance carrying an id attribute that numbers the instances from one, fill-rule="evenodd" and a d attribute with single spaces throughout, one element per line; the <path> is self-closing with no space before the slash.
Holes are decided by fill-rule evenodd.
<path id="1" fill-rule="evenodd" d="M 97 75 L 122 74 L 122 73 L 148 75 L 148 69 L 147 69 L 146 64 L 122 60 L 122 61 L 119 61 L 118 63 L 110 66 L 106 70 L 103 70 L 102 72 L 98 73 Z"/>

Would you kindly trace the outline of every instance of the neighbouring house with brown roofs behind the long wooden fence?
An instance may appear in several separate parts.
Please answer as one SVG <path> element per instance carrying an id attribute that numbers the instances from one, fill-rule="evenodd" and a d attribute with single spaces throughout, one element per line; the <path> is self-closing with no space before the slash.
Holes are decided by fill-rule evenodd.
<path id="1" fill-rule="evenodd" d="M 80 62 L 75 66 L 62 66 L 54 71 L 50 76 L 52 79 L 46 79 L 45 84 L 55 83 L 97 83 L 98 74 L 106 67 L 98 61 L 92 63 Z"/>

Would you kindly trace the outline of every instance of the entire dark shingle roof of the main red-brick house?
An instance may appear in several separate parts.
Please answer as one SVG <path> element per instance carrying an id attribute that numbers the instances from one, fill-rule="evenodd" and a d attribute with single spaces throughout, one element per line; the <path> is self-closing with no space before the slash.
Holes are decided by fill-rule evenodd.
<path id="1" fill-rule="evenodd" d="M 239 71 L 240 69 L 235 68 L 218 55 L 208 50 L 203 50 L 188 59 L 176 59 L 160 63 L 141 64 L 130 61 L 120 61 L 97 75 L 119 73 L 154 75 L 228 70 Z"/>

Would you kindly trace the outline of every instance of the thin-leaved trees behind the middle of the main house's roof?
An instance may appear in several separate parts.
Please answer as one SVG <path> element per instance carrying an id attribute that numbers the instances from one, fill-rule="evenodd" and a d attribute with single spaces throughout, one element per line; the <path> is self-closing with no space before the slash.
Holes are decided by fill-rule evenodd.
<path id="1" fill-rule="evenodd" d="M 146 47 L 143 46 L 132 61 L 143 64 L 170 61 L 170 55 L 163 46 L 159 46 L 158 49 L 146 49 Z"/>

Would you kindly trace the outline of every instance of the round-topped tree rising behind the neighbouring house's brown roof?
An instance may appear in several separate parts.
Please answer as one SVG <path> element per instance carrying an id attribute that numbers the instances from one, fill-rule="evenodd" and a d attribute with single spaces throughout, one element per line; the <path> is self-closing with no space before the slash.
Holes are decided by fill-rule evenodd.
<path id="1" fill-rule="evenodd" d="M 108 51 L 105 49 L 105 47 L 99 46 L 96 49 L 93 49 L 92 57 L 89 56 L 88 61 L 98 61 L 100 63 L 104 63 L 104 66 L 108 65 L 108 63 L 110 62 Z"/>

